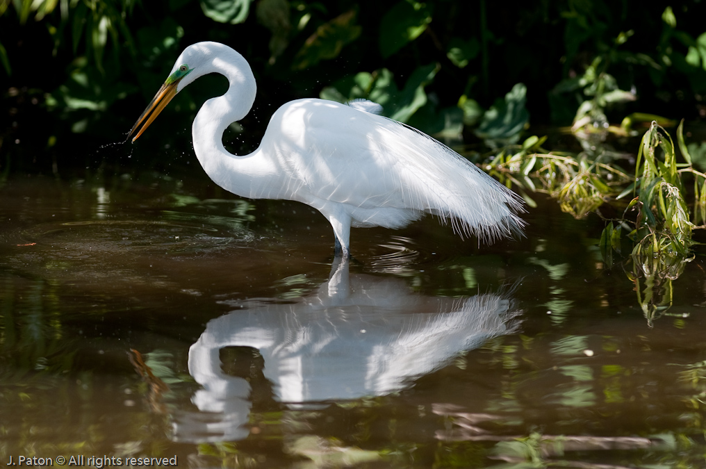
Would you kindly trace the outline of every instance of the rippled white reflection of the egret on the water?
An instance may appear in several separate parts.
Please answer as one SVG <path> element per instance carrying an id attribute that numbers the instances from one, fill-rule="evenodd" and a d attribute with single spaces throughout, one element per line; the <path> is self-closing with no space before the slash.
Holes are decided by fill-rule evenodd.
<path id="1" fill-rule="evenodd" d="M 203 386 L 201 412 L 177 418 L 184 440 L 241 439 L 250 384 L 223 372 L 220 350 L 256 348 L 275 398 L 292 408 L 383 396 L 448 364 L 485 340 L 514 331 L 506 295 L 425 297 L 402 280 L 348 274 L 346 260 L 311 295 L 258 304 L 213 319 L 189 350 L 189 373 Z M 213 413 L 217 412 L 217 413 Z"/>

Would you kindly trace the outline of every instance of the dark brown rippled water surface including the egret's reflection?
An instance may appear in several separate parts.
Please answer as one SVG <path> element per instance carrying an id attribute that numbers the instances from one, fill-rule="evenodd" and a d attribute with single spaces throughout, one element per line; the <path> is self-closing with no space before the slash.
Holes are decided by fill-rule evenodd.
<path id="1" fill-rule="evenodd" d="M 525 239 L 428 217 L 340 264 L 315 211 L 205 181 L 0 187 L 0 464 L 706 467 L 701 256 L 636 285 L 544 201 Z"/>

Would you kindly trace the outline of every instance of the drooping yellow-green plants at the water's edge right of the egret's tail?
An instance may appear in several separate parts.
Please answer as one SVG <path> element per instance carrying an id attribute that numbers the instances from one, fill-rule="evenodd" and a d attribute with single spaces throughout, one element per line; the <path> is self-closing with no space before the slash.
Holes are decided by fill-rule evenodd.
<path id="1" fill-rule="evenodd" d="M 608 150 L 547 152 L 542 148 L 546 137 L 537 136 L 503 148 L 486 170 L 516 186 L 530 206 L 536 206 L 531 192 L 544 193 L 575 218 L 589 213 L 604 218 L 599 247 L 607 267 L 614 265 L 614 255 L 622 256 L 623 244 L 631 243 L 626 273 L 651 325 L 671 306 L 671 282 L 693 259 L 693 230 L 706 227 L 706 174 L 693 167 L 683 122 L 676 139 L 683 162 L 677 162 L 669 133 L 652 121 L 642 136 L 634 174 L 619 167 Z M 693 191 L 686 190 L 688 182 Z M 604 204 L 621 215 L 604 216 Z"/>

